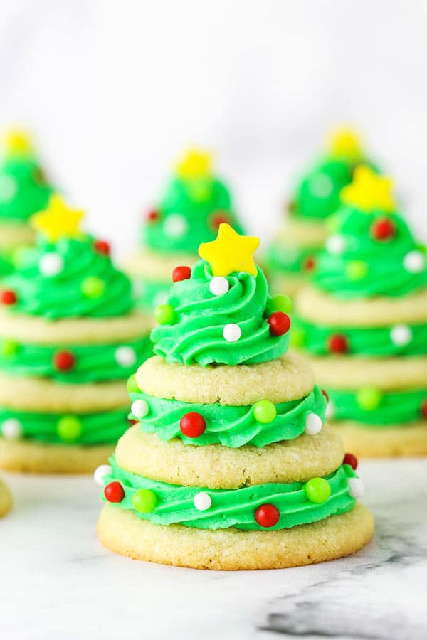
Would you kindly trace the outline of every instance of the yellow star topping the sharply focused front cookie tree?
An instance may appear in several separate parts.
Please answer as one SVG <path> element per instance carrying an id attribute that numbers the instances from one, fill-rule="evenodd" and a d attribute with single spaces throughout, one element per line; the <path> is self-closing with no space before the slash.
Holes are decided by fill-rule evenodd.
<path id="1" fill-rule="evenodd" d="M 228 276 L 233 271 L 257 274 L 253 254 L 260 244 L 259 238 L 238 235 L 230 225 L 219 225 L 216 240 L 204 242 L 199 247 L 199 256 L 209 262 L 214 276 Z"/>

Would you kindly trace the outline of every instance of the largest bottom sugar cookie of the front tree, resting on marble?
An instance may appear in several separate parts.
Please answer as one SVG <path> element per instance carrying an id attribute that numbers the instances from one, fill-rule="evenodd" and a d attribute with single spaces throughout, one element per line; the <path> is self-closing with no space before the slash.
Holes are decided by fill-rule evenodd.
<path id="1" fill-rule="evenodd" d="M 280 569 L 354 553 L 371 539 L 374 518 L 357 503 L 342 515 L 290 529 L 213 531 L 154 525 L 107 504 L 97 532 L 105 547 L 137 560 L 194 569 Z"/>

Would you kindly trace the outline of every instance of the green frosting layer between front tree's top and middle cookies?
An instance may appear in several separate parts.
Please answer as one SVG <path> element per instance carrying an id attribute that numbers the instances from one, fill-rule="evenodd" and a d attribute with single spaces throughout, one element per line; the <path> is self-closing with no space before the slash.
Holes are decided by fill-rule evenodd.
<path id="1" fill-rule="evenodd" d="M 220 405 L 189 404 L 179 400 L 165 400 L 147 393 L 131 393 L 132 402 L 144 400 L 149 412 L 140 419 L 142 431 L 156 433 L 162 440 L 179 437 L 184 444 L 222 444 L 224 447 L 243 447 L 253 444 L 265 447 L 272 442 L 292 440 L 305 430 L 307 414 L 315 413 L 325 418 L 326 400 L 319 388 L 315 387 L 305 398 L 280 402 L 275 405 L 277 415 L 268 423 L 258 422 L 254 415 L 254 405 L 232 407 Z M 204 434 L 189 438 L 181 433 L 179 422 L 186 413 L 197 412 L 206 421 Z M 130 418 L 135 416 L 130 414 Z"/>

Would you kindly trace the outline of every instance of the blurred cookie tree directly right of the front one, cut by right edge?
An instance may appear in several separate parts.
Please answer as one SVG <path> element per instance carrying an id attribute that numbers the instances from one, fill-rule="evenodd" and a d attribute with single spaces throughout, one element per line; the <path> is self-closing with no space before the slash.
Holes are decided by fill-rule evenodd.
<path id="1" fill-rule="evenodd" d="M 359 167 L 342 202 L 312 285 L 297 297 L 293 343 L 310 355 L 347 447 L 427 454 L 425 249 L 388 178 Z"/>

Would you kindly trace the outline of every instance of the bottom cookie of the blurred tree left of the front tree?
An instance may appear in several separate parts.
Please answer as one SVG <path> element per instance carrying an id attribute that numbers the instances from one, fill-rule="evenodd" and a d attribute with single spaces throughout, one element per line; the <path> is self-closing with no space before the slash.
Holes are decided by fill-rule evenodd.
<path id="1" fill-rule="evenodd" d="M 107 462 L 113 450 L 114 444 L 81 447 L 0 438 L 0 467 L 35 474 L 88 474 Z"/>

